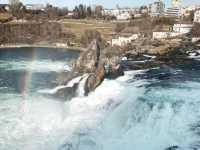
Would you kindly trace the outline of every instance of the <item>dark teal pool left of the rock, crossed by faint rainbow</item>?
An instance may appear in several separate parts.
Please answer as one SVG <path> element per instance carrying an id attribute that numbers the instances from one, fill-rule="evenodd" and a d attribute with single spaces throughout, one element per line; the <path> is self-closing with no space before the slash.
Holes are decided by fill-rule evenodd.
<path id="1" fill-rule="evenodd" d="M 1 49 L 0 87 L 20 92 L 24 81 L 29 82 L 28 88 L 33 91 L 53 87 L 57 75 L 69 71 L 71 61 L 79 53 L 50 48 Z"/>

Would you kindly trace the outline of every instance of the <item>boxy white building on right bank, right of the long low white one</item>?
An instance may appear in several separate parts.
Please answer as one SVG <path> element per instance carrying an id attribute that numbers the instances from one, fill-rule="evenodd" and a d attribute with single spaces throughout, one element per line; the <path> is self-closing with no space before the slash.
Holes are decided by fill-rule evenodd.
<path id="1" fill-rule="evenodd" d="M 186 34 L 192 30 L 193 24 L 190 23 L 176 23 L 173 26 L 173 31 L 176 33 Z"/>

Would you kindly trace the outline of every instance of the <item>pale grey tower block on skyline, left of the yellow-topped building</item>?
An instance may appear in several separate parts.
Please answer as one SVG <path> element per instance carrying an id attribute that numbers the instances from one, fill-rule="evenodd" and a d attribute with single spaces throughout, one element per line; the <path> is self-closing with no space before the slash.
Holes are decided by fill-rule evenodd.
<path id="1" fill-rule="evenodd" d="M 162 16 L 164 14 L 165 4 L 159 0 L 152 4 L 149 4 L 150 16 Z"/>

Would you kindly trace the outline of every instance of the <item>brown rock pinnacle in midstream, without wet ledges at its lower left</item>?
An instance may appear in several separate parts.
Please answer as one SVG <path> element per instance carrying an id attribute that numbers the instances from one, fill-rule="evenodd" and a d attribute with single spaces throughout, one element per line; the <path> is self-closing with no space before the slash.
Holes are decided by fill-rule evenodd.
<path id="1" fill-rule="evenodd" d="M 120 67 L 120 55 L 109 56 L 108 49 L 101 49 L 98 40 L 94 40 L 88 50 L 84 52 L 74 64 L 74 72 L 89 73 L 85 83 L 85 95 L 95 90 L 105 77 L 118 77 L 123 75 Z"/>

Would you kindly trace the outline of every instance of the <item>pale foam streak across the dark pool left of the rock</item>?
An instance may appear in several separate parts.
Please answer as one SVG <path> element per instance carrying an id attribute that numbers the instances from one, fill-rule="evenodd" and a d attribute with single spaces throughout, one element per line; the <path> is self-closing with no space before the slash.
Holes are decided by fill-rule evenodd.
<path id="1" fill-rule="evenodd" d="M 0 69 L 2 70 L 31 70 L 33 72 L 60 72 L 69 71 L 71 67 L 64 61 L 52 60 L 1 60 Z"/>

